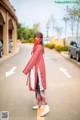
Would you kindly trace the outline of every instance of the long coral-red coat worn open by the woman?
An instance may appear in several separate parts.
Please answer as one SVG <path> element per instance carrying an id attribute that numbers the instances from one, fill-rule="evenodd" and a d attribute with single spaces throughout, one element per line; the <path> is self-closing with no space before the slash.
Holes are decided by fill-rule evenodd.
<path id="1" fill-rule="evenodd" d="M 28 73 L 30 73 L 33 67 L 35 67 L 35 74 L 34 74 L 35 75 L 35 87 L 34 89 L 32 89 L 29 85 L 30 90 L 35 91 L 36 89 L 38 69 L 40 71 L 42 87 L 43 89 L 46 89 L 46 71 L 45 71 L 45 64 L 44 64 L 44 58 L 43 58 L 43 46 L 41 44 L 38 44 L 36 46 L 36 49 L 31 59 L 27 63 L 26 67 L 24 68 L 23 73 L 27 75 Z"/>

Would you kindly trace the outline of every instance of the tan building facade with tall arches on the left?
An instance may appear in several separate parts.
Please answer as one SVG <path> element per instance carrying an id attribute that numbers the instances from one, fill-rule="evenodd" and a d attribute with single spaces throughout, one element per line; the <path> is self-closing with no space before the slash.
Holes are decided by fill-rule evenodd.
<path id="1" fill-rule="evenodd" d="M 9 53 L 9 40 L 13 42 L 12 50 L 17 48 L 18 19 L 9 0 L 0 0 L 0 40 L 3 42 L 3 54 Z"/>

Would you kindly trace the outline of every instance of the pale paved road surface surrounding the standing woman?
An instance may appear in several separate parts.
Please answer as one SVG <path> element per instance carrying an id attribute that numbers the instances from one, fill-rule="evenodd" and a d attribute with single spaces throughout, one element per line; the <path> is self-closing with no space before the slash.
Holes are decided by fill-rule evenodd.
<path id="1" fill-rule="evenodd" d="M 18 54 L 0 63 L 0 111 L 9 111 L 10 120 L 38 120 L 31 109 L 36 104 L 35 93 L 28 90 L 22 74 L 33 45 L 19 46 Z M 51 109 L 44 119 L 80 120 L 80 68 L 49 49 L 45 49 L 44 60 Z M 12 75 L 6 76 L 6 72 Z"/>

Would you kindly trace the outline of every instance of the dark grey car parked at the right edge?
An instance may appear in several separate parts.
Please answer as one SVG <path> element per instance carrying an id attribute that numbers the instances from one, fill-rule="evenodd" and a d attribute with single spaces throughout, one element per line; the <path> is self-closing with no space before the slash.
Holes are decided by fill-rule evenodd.
<path id="1" fill-rule="evenodd" d="M 75 57 L 77 61 L 80 61 L 80 40 L 72 40 L 69 46 L 70 58 Z"/>

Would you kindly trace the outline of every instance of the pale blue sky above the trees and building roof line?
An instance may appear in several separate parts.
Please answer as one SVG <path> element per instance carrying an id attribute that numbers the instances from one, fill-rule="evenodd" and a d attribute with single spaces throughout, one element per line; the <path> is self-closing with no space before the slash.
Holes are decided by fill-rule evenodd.
<path id="1" fill-rule="evenodd" d="M 65 15 L 65 8 L 68 4 L 58 4 L 58 0 L 9 0 L 16 10 L 18 21 L 23 26 L 33 27 L 35 23 L 40 23 L 40 31 L 46 36 L 46 23 L 51 16 L 55 19 L 55 26 L 58 26 L 65 35 L 65 23 L 62 20 Z M 57 36 L 53 31 L 53 25 L 50 24 L 49 35 Z"/>

